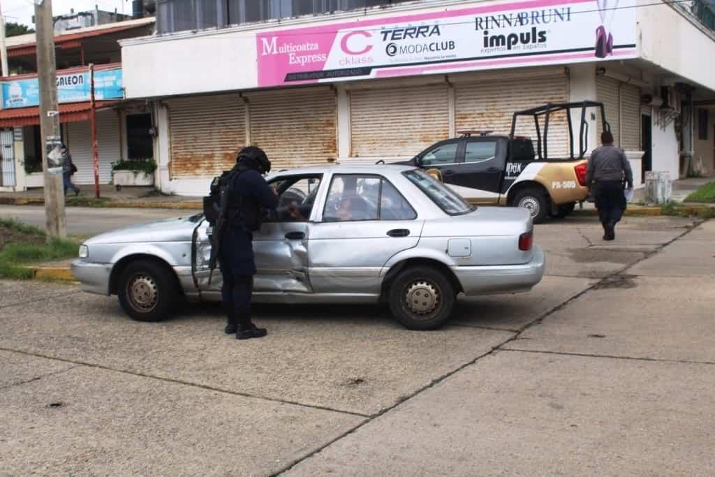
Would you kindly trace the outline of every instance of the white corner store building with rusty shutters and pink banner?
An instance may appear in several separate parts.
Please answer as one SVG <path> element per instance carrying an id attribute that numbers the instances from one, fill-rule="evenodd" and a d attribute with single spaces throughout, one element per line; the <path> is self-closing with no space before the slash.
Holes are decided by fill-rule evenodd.
<path id="1" fill-rule="evenodd" d="M 211 15 L 199 5 L 179 16 L 164 2 L 162 34 L 121 42 L 127 98 L 154 108 L 163 192 L 204 194 L 247 144 L 276 169 L 405 159 L 464 130 L 507 134 L 520 109 L 586 99 L 605 104 L 638 183 L 713 159 L 693 117 L 715 98 L 715 64 L 697 59 L 715 57 L 715 33 L 680 5 L 358 1 L 310 16 L 322 11 L 209 3 Z M 591 150 L 601 122 L 586 120 Z M 551 118 L 550 157 L 568 155 L 567 122 Z"/>

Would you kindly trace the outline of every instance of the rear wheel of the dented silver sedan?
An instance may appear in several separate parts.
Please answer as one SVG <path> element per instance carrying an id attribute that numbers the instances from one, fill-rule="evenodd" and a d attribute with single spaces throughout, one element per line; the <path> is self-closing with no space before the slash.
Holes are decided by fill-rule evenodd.
<path id="1" fill-rule="evenodd" d="M 390 286 L 390 311 L 409 330 L 435 330 L 452 315 L 455 297 L 454 287 L 443 272 L 433 267 L 410 267 Z"/>

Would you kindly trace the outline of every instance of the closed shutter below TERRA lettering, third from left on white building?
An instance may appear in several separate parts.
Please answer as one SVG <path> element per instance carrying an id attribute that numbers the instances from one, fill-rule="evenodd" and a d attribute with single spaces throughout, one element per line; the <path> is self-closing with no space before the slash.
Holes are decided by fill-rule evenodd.
<path id="1" fill-rule="evenodd" d="M 351 157 L 413 157 L 449 137 L 446 84 L 349 94 Z"/>

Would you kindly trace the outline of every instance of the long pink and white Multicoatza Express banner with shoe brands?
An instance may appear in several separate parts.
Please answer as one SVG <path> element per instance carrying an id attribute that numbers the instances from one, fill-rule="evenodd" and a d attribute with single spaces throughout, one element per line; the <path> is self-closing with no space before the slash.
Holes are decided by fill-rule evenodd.
<path id="1" fill-rule="evenodd" d="M 636 58 L 636 0 L 537 0 L 257 34 L 258 85 Z"/>

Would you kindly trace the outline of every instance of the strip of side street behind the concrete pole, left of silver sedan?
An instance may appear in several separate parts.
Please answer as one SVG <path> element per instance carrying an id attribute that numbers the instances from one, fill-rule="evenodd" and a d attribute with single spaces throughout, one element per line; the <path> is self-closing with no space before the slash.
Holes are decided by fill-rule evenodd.
<path id="1" fill-rule="evenodd" d="M 67 233 L 95 235 L 101 232 L 138 225 L 154 220 L 193 215 L 197 210 L 174 209 L 115 209 L 95 207 L 67 207 Z M 0 217 L 16 217 L 22 222 L 44 228 L 44 207 L 31 205 L 0 205 Z"/>

